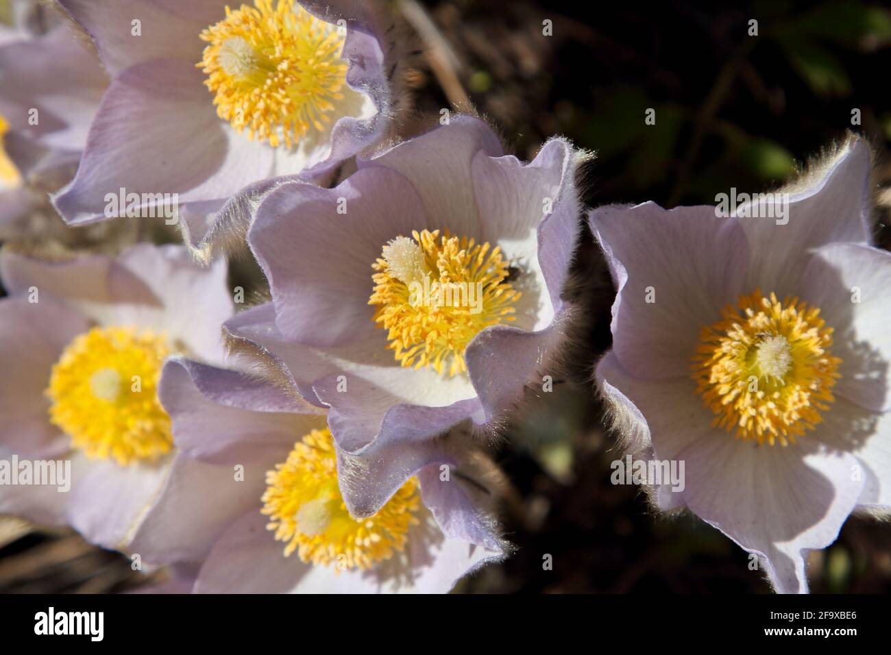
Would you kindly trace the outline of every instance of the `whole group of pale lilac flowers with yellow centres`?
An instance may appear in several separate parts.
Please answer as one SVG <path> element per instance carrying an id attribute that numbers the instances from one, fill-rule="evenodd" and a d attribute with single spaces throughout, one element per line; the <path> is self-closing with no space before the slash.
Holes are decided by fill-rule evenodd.
<path id="1" fill-rule="evenodd" d="M 447 592 L 511 552 L 487 448 L 584 315 L 562 291 L 585 224 L 617 286 L 592 402 L 627 453 L 686 463 L 653 504 L 780 592 L 888 511 L 891 255 L 861 140 L 783 225 L 590 209 L 565 139 L 525 163 L 447 112 L 397 139 L 405 48 L 372 3 L 56 4 L 0 32 L 0 457 L 63 458 L 71 484 L 0 487 L 0 512 L 177 591 Z M 53 210 L 184 243 L 39 257 L 22 233 Z M 240 244 L 269 293 L 235 311 Z"/>

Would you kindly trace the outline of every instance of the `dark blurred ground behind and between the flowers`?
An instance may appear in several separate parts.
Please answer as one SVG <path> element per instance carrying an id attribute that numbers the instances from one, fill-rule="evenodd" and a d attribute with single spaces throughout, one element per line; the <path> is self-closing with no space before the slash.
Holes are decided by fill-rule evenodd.
<path id="1" fill-rule="evenodd" d="M 714 203 L 766 191 L 853 129 L 878 155 L 876 237 L 891 213 L 891 12 L 856 0 L 740 4 L 431 0 L 396 2 L 419 53 L 400 76 L 419 114 L 470 106 L 529 159 L 551 135 L 596 151 L 591 205 Z M 550 20 L 545 36 L 543 21 Z M 750 20 L 757 36 L 749 36 Z M 656 124 L 646 125 L 645 111 Z M 852 111 L 859 110 L 859 125 Z M 590 240 L 569 290 L 590 309 L 585 352 L 609 348 L 609 275 Z M 769 591 L 748 556 L 688 515 L 661 518 L 609 483 L 618 453 L 579 356 L 551 394 L 530 397 L 498 444 L 515 488 L 503 506 L 518 552 L 462 582 L 471 593 Z M 740 490 L 740 493 L 743 493 Z M 552 556 L 552 569 L 543 567 Z M 891 591 L 891 523 L 851 518 L 811 554 L 814 592 Z M 129 561 L 64 531 L 0 520 L 0 591 L 121 591 Z"/>

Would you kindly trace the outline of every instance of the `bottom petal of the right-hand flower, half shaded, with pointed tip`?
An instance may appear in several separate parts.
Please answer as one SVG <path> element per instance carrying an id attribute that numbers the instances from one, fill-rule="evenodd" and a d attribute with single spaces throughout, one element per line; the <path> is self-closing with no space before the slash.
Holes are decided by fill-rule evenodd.
<path id="1" fill-rule="evenodd" d="M 758 447 L 715 432 L 678 454 L 691 511 L 764 556 L 781 594 L 807 592 L 804 551 L 836 540 L 863 486 L 852 479 L 853 455 L 806 448 L 805 438 Z"/>

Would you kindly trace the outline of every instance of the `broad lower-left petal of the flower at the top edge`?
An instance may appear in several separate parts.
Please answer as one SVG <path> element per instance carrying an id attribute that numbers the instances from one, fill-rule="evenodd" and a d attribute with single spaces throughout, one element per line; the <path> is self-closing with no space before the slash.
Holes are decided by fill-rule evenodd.
<path id="1" fill-rule="evenodd" d="M 153 60 L 111 83 L 78 174 L 53 202 L 72 224 L 123 216 L 131 205 L 140 216 L 174 221 L 170 205 L 222 201 L 272 173 L 272 149 L 217 118 L 193 63 Z M 132 193 L 138 208 L 127 200 Z"/>

